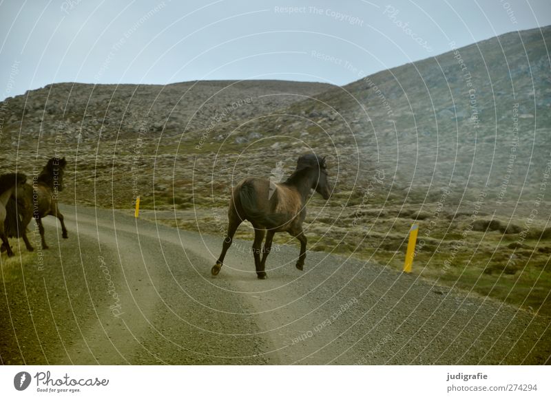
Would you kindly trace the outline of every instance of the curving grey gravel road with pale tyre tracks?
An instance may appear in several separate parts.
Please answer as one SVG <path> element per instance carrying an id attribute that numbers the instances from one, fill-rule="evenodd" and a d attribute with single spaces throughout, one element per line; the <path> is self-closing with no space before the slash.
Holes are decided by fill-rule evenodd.
<path id="1" fill-rule="evenodd" d="M 241 240 L 213 278 L 222 237 L 61 209 L 69 239 L 48 217 L 32 264 L 1 255 L 3 364 L 550 363 L 551 320 L 491 299 L 298 245 L 259 281 Z"/>

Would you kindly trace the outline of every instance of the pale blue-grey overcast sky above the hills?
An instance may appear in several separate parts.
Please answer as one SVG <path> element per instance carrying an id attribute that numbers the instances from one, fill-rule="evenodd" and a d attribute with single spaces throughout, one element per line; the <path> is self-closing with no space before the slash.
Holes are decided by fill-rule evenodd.
<path id="1" fill-rule="evenodd" d="M 4 0 L 0 100 L 60 82 L 345 85 L 545 25 L 549 0 Z"/>

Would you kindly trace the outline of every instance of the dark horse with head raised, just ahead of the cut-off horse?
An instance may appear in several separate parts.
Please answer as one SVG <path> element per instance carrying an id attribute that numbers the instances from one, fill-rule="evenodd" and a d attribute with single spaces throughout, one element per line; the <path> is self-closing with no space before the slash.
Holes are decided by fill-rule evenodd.
<path id="1" fill-rule="evenodd" d="M 44 239 L 44 226 L 42 218 L 48 215 L 55 216 L 61 223 L 61 236 L 67 238 L 67 228 L 63 222 L 63 215 L 57 206 L 57 195 L 63 190 L 63 173 L 67 166 L 65 158 L 50 158 L 43 167 L 41 173 L 33 178 L 32 186 L 25 184 L 21 188 L 18 200 L 10 200 L 8 208 L 17 209 L 17 212 L 10 212 L 6 219 L 6 230 L 12 237 L 22 237 L 25 246 L 32 251 L 27 237 L 27 226 L 34 217 L 39 227 L 40 238 L 43 249 L 48 249 Z M 11 215 L 11 216 L 10 216 Z"/>

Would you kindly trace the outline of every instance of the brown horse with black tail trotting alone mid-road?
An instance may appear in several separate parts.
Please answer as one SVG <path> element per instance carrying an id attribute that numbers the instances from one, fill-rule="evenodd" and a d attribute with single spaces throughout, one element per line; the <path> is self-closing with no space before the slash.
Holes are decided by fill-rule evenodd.
<path id="1" fill-rule="evenodd" d="M 300 241 L 300 255 L 296 267 L 302 270 L 306 259 L 306 236 L 302 231 L 302 222 L 306 217 L 305 204 L 311 190 L 320 193 L 324 200 L 329 200 L 331 195 L 325 158 L 318 158 L 315 154 L 301 155 L 295 171 L 284 183 L 275 184 L 259 177 L 247 177 L 239 182 L 233 188 L 229 200 L 227 237 L 211 273 L 216 276 L 220 272 L 233 235 L 244 220 L 251 222 L 255 229 L 253 255 L 259 279 L 267 277 L 264 268 L 273 235 L 284 231 Z M 264 250 L 261 251 L 264 235 L 266 242 Z"/>

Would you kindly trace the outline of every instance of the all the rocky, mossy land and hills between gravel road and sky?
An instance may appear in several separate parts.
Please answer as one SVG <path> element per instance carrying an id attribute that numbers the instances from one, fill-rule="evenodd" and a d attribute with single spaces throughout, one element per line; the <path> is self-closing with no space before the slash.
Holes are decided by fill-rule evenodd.
<path id="1" fill-rule="evenodd" d="M 309 203 L 311 250 L 400 268 L 417 223 L 414 274 L 549 315 L 550 39 L 545 27 L 450 43 L 344 87 L 54 84 L 3 104 L 1 166 L 31 174 L 58 152 L 63 202 L 132 208 L 140 195 L 146 217 L 222 235 L 232 182 L 323 153 L 335 193 Z"/>

